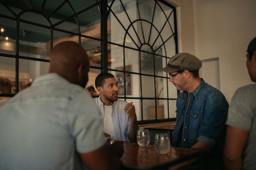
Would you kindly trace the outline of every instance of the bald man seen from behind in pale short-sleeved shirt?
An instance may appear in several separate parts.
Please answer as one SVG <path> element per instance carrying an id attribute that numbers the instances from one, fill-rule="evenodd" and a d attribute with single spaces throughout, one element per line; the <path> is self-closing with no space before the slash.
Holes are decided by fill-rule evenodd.
<path id="1" fill-rule="evenodd" d="M 0 108 L 0 170 L 121 169 L 123 146 L 111 152 L 100 110 L 84 90 L 88 71 L 76 42 L 52 49 L 49 74 Z"/>

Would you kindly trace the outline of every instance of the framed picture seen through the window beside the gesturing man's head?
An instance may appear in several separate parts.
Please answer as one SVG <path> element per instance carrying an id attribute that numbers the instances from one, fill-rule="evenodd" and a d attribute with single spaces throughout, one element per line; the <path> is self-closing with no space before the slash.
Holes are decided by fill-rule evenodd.
<path id="1" fill-rule="evenodd" d="M 123 66 L 116 67 L 115 69 L 123 70 Z M 125 71 L 132 71 L 132 65 L 126 65 Z M 133 95 L 132 75 L 130 73 L 125 73 L 125 87 L 123 72 L 116 72 L 115 78 L 118 81 L 118 95 L 124 95 L 124 88 L 126 88 L 126 95 Z"/>

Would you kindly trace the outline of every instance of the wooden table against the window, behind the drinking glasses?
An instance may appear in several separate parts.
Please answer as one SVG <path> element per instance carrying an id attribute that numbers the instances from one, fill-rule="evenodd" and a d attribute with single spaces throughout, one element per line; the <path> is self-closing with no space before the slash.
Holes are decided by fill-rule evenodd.
<path id="1" fill-rule="evenodd" d="M 168 133 L 170 138 L 170 142 L 172 141 L 172 132 L 174 130 L 175 124 L 172 125 L 161 125 L 161 126 L 154 126 L 154 127 L 145 127 L 145 129 L 149 130 L 150 133 L 150 144 L 154 144 L 155 134 L 157 133 Z"/>

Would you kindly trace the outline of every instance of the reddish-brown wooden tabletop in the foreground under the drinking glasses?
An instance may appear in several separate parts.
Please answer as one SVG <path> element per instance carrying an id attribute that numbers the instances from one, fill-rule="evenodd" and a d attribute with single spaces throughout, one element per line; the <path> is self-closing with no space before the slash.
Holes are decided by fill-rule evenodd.
<path id="1" fill-rule="evenodd" d="M 154 145 L 146 147 L 136 143 L 123 143 L 124 153 L 120 160 L 123 170 L 166 170 L 172 165 L 206 154 L 205 151 L 171 147 L 170 152 L 158 154 Z"/>

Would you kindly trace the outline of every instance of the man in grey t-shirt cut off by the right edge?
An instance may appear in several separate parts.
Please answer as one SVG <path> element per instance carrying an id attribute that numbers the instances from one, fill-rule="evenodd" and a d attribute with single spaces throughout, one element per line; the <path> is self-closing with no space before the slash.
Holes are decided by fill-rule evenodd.
<path id="1" fill-rule="evenodd" d="M 246 66 L 256 82 L 256 37 L 247 48 Z M 224 149 L 227 170 L 256 169 L 256 84 L 237 89 L 228 109 L 228 125 Z"/>

